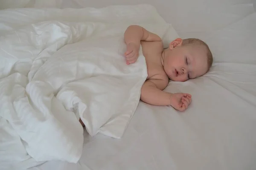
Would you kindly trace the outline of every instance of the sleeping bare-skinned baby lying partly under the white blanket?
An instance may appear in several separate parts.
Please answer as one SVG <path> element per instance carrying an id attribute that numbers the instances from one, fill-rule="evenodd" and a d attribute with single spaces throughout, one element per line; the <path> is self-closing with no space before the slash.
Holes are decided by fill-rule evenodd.
<path id="1" fill-rule="evenodd" d="M 145 57 L 148 77 L 141 88 L 140 99 L 151 105 L 171 105 L 178 111 L 184 111 L 191 103 L 192 96 L 186 93 L 168 93 L 163 91 L 172 81 L 186 81 L 202 76 L 212 66 L 212 53 L 206 43 L 190 38 L 177 38 L 163 49 L 159 36 L 141 26 L 129 26 L 125 31 L 126 64 L 136 62 L 140 45 Z M 84 123 L 79 120 L 84 126 Z"/>

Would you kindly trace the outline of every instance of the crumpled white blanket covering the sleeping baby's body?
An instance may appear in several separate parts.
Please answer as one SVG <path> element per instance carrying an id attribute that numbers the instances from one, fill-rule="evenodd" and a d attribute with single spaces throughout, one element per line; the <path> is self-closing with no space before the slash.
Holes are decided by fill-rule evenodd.
<path id="1" fill-rule="evenodd" d="M 77 162 L 79 117 L 91 136 L 121 138 L 147 77 L 141 49 L 135 64 L 125 64 L 125 29 L 140 24 L 165 45 L 177 37 L 147 5 L 8 9 L 0 23 L 0 163 L 12 169 Z"/>

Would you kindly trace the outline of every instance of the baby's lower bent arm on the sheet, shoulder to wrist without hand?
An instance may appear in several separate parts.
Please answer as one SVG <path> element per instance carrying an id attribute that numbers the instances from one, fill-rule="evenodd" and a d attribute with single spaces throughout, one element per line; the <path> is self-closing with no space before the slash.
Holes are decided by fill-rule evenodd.
<path id="1" fill-rule="evenodd" d="M 148 79 L 141 88 L 140 99 L 151 105 L 171 105 L 171 93 L 162 91 L 168 85 L 168 78 Z"/>

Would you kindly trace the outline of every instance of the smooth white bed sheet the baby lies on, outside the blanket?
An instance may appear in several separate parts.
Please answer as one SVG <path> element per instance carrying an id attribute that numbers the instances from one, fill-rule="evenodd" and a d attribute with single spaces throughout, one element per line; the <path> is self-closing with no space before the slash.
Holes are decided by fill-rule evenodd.
<path id="1" fill-rule="evenodd" d="M 255 1 L 27 0 L 16 6 L 10 2 L 14 1 L 1 8 L 93 7 L 109 11 L 117 7 L 114 5 L 136 8 L 147 3 L 159 14 L 155 21 L 163 25 L 170 23 L 181 38 L 204 40 L 214 56 L 207 74 L 187 82 L 169 82 L 165 89 L 192 94 L 192 104 L 186 111 L 180 113 L 172 107 L 140 101 L 119 139 L 104 134 L 91 136 L 84 130 L 81 157 L 76 163 L 52 160 L 24 162 L 20 167 L 29 170 L 256 169 Z M 114 12 L 111 14 L 116 17 Z M 125 10 L 118 14 L 118 17 L 128 16 Z M 20 167 L 16 168 L 20 170 Z"/>

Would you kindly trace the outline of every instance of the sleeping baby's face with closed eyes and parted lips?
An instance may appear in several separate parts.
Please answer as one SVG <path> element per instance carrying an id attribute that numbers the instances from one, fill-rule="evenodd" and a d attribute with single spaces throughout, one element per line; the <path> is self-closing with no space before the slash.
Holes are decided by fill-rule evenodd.
<path id="1" fill-rule="evenodd" d="M 207 54 L 204 47 L 177 46 L 165 53 L 163 68 L 172 81 L 184 82 L 207 72 Z"/>

